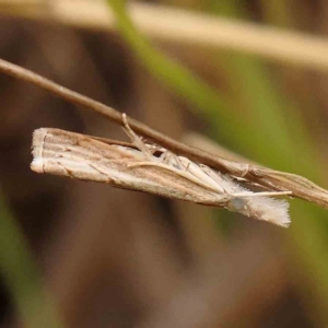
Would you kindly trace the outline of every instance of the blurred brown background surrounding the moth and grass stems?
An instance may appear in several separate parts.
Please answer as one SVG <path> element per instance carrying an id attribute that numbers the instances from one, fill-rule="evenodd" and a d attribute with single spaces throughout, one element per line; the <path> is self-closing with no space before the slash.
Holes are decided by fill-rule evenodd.
<path id="1" fill-rule="evenodd" d="M 220 1 L 154 2 L 218 16 L 230 13 L 224 5 L 220 8 Z M 285 1 L 289 19 L 279 11 L 280 1 L 277 7 L 274 1 L 242 2 L 245 20 L 327 35 L 328 4 L 324 0 Z M 230 71 L 220 50 L 215 57 L 213 49 L 192 45 L 159 39 L 155 45 L 220 92 L 231 91 Z M 0 57 L 173 138 L 180 139 L 190 130 L 209 131 L 208 120 L 148 72 L 113 31 L 72 27 L 3 11 Z M 326 73 L 276 62 L 267 66 L 274 73 L 273 82 L 303 105 L 298 114 L 321 160 L 318 167 L 326 172 L 316 183 L 327 187 Z M 304 254 L 293 244 L 293 233 L 223 210 L 36 175 L 30 171 L 31 136 L 36 128 L 57 127 L 119 140 L 127 137 L 117 125 L 27 83 L 0 74 L 0 86 L 3 198 L 67 327 L 276 328 L 328 323 L 328 294 L 317 292 L 312 268 L 300 265 L 298 258 L 311 251 Z M 231 147 L 223 137 L 216 141 Z M 295 161 L 302 162 L 304 154 L 298 155 Z M 293 207 L 302 202 L 292 201 Z M 315 215 L 327 219 L 327 212 L 315 206 L 304 213 L 308 221 Z M 292 215 L 292 220 L 297 218 Z M 327 223 L 318 222 L 327 234 Z M 312 255 L 327 261 L 328 250 Z M 33 298 L 33 291 L 31 295 Z M 20 316 L 3 279 L 0 323 L 2 327 L 21 325 Z"/>

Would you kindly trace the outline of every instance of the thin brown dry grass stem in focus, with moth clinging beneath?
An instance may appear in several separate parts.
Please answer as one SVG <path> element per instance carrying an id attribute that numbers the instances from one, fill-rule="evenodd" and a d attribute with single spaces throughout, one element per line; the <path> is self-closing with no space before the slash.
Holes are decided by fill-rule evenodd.
<path id="1" fill-rule="evenodd" d="M 0 71 L 40 86 L 74 105 L 84 106 L 85 108 L 97 112 L 124 126 L 121 113 L 99 102 L 63 87 L 30 70 L 0 59 Z M 302 176 L 251 165 L 248 163 L 229 161 L 223 157 L 215 156 L 199 149 L 175 141 L 169 137 L 164 136 L 163 133 L 160 133 L 147 125 L 131 118 L 129 118 L 129 125 L 140 136 L 154 141 L 155 144 L 162 145 L 177 155 L 185 155 L 197 163 L 206 164 L 221 173 L 229 174 L 232 177 L 243 178 L 246 181 L 262 186 L 266 189 L 272 191 L 290 191 L 292 192 L 293 197 L 328 208 L 328 191 Z"/>

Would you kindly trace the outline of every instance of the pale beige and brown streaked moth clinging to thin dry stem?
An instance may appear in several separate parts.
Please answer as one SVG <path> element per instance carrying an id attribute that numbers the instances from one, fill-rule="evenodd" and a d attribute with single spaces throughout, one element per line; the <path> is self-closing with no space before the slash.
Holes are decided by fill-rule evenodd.
<path id="1" fill-rule="evenodd" d="M 250 191 L 227 174 L 143 142 L 129 127 L 125 114 L 122 121 L 132 144 L 55 128 L 35 130 L 31 168 L 225 208 L 280 226 L 289 225 L 289 203 L 272 197 L 290 191 Z"/>

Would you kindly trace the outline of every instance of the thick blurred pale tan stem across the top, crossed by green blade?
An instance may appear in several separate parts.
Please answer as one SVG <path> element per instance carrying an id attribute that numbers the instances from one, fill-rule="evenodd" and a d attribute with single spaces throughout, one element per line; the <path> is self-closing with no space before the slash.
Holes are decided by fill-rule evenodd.
<path id="1" fill-rule="evenodd" d="M 20 5 L 24 10 L 20 10 Z M 0 0 L 0 9 L 8 14 L 45 21 L 55 19 L 79 27 L 115 28 L 113 14 L 101 0 L 15 0 L 12 3 Z M 128 10 L 138 28 L 153 38 L 232 49 L 315 70 L 328 70 L 328 42 L 324 37 L 159 4 L 132 2 Z"/>

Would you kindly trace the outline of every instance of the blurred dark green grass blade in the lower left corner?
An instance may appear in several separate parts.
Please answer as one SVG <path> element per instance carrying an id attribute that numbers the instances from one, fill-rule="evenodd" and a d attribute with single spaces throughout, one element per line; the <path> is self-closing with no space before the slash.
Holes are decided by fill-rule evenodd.
<path id="1" fill-rule="evenodd" d="M 0 270 L 25 327 L 63 327 L 34 266 L 24 235 L 1 194 Z"/>

